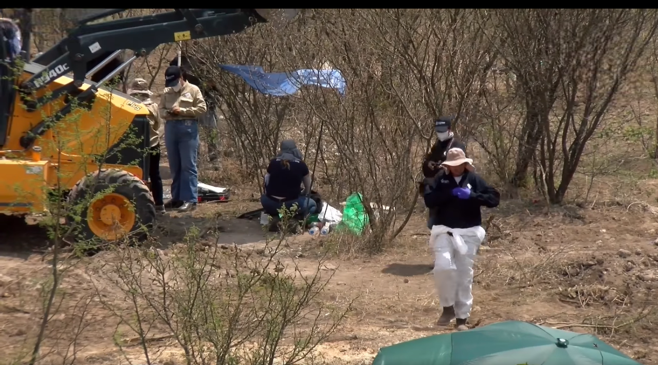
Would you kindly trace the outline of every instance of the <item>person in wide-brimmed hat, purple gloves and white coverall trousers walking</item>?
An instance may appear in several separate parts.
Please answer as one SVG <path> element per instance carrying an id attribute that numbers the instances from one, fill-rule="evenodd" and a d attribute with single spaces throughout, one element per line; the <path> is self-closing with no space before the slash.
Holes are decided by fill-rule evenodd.
<path id="1" fill-rule="evenodd" d="M 430 235 L 434 250 L 434 281 L 443 312 L 438 326 L 457 319 L 458 331 L 468 329 L 473 306 L 473 262 L 484 240 L 481 207 L 495 208 L 500 193 L 474 172 L 473 160 L 461 148 L 447 151 L 425 205 L 437 208 Z"/>

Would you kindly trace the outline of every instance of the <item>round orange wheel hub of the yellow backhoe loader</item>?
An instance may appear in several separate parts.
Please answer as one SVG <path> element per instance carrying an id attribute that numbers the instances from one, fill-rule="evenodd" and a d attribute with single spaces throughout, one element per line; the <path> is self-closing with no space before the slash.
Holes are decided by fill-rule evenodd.
<path id="1" fill-rule="evenodd" d="M 135 225 L 135 209 L 123 195 L 110 193 L 91 202 L 87 222 L 93 234 L 114 241 L 130 233 Z"/>

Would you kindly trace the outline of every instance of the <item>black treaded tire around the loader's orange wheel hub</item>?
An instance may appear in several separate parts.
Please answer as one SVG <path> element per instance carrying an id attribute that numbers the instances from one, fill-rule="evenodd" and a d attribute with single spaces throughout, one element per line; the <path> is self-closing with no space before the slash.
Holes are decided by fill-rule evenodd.
<path id="1" fill-rule="evenodd" d="M 103 237 L 93 233 L 88 220 L 90 197 L 95 197 L 103 192 L 122 195 L 132 203 L 135 223 L 126 236 L 132 241 L 144 241 L 153 231 L 156 220 L 155 201 L 153 201 L 153 195 L 149 187 L 130 172 L 107 168 L 82 178 L 68 194 L 68 207 L 72 207 L 76 202 L 84 205 L 77 212 L 77 215 L 80 216 L 79 222 L 76 222 L 73 216 L 67 217 L 68 224 L 77 226 L 75 231 L 76 239 L 107 242 Z"/>

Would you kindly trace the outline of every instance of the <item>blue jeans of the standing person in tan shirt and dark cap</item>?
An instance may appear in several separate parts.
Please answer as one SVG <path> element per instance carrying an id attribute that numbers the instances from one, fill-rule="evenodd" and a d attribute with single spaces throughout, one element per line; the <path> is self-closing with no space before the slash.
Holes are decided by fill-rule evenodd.
<path id="1" fill-rule="evenodd" d="M 197 203 L 197 150 L 199 125 L 196 120 L 167 120 L 164 147 L 171 170 L 171 198 Z"/>

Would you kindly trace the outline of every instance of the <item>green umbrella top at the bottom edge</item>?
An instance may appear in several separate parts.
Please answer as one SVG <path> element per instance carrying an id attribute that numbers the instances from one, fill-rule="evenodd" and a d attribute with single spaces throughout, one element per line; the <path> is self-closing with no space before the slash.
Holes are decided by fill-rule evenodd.
<path id="1" fill-rule="evenodd" d="M 380 349 L 372 365 L 638 365 L 594 335 L 507 321 Z"/>

